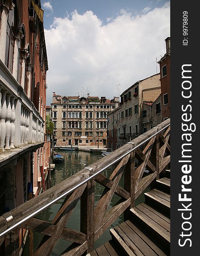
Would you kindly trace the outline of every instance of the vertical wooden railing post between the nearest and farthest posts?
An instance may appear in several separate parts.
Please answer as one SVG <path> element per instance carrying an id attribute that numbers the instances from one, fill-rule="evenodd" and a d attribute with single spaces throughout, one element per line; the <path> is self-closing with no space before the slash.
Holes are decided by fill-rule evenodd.
<path id="1" fill-rule="evenodd" d="M 131 204 L 124 212 L 124 220 L 129 218 L 129 209 L 135 205 L 134 171 L 135 171 L 135 151 L 130 153 L 129 161 L 124 171 L 124 189 L 130 193 Z"/>

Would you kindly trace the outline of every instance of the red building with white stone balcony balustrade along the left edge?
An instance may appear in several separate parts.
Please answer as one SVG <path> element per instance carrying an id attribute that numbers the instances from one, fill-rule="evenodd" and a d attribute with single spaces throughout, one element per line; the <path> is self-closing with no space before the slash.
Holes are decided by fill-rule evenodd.
<path id="1" fill-rule="evenodd" d="M 0 0 L 1 215 L 46 189 L 48 62 L 38 8 L 39 0 Z M 19 248 L 24 234 L 20 232 Z M 8 250 L 6 241 L 1 240 L 1 255 Z"/>

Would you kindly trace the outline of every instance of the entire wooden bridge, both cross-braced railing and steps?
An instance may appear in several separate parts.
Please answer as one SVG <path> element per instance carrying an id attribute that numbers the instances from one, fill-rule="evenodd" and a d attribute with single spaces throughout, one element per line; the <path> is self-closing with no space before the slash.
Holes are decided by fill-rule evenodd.
<path id="1" fill-rule="evenodd" d="M 0 243 L 5 255 L 19 255 L 19 229 L 29 230 L 29 256 L 49 256 L 58 239 L 71 241 L 62 256 L 169 255 L 170 252 L 170 119 L 123 145 L 96 163 L 0 217 Z M 107 177 L 103 171 L 113 168 Z M 166 171 L 166 169 L 168 171 Z M 144 172 L 148 170 L 149 172 Z M 106 172 L 107 173 L 107 172 Z M 119 185 L 124 179 L 124 187 Z M 95 183 L 104 191 L 94 206 Z M 143 191 L 145 202 L 135 205 Z M 114 194 L 121 199 L 110 207 Z M 53 221 L 34 218 L 65 198 Z M 80 230 L 67 227 L 80 200 Z M 94 242 L 124 213 L 124 222 L 110 230 L 112 239 L 94 250 Z M 33 250 L 33 232 L 44 235 Z"/>

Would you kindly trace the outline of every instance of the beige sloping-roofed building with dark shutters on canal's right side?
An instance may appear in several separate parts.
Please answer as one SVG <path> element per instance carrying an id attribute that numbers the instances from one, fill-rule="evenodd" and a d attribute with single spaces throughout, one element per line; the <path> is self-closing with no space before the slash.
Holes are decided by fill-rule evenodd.
<path id="1" fill-rule="evenodd" d="M 121 96 L 120 107 L 108 115 L 108 147 L 115 150 L 148 129 L 144 123 L 145 102 L 153 103 L 160 95 L 160 74 L 137 81 Z M 144 105 L 144 106 L 143 106 Z M 152 128 L 150 120 L 149 126 Z"/>

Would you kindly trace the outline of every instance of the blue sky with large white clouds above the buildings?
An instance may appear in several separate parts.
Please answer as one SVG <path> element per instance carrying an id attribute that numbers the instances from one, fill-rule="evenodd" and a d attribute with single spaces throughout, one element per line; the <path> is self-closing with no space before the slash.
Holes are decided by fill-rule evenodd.
<path id="1" fill-rule="evenodd" d="M 170 36 L 167 0 L 41 1 L 52 92 L 118 96 L 160 72 L 156 62 Z M 120 84 L 120 86 L 116 86 Z M 119 90 L 118 90 L 119 88 Z"/>

